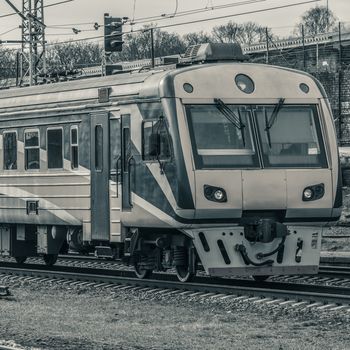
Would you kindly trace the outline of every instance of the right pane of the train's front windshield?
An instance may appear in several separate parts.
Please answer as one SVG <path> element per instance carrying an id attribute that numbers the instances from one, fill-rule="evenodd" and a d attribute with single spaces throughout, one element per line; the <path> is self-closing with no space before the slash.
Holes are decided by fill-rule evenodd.
<path id="1" fill-rule="evenodd" d="M 326 167 L 315 106 L 265 105 L 254 108 L 264 167 Z"/>

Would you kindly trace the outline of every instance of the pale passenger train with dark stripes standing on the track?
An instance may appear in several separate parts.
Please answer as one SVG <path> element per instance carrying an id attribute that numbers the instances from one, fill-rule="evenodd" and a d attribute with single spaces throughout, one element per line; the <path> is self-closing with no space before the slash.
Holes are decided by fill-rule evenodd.
<path id="1" fill-rule="evenodd" d="M 172 65 L 0 92 L 0 255 L 63 245 L 140 278 L 314 274 L 342 196 L 327 96 L 237 44 Z"/>

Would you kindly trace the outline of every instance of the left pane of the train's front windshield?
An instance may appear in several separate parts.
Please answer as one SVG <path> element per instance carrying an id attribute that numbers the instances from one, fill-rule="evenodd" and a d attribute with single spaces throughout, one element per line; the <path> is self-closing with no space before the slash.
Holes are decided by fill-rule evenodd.
<path id="1" fill-rule="evenodd" d="M 197 168 L 259 167 L 250 109 L 203 104 L 187 105 L 186 112 Z"/>

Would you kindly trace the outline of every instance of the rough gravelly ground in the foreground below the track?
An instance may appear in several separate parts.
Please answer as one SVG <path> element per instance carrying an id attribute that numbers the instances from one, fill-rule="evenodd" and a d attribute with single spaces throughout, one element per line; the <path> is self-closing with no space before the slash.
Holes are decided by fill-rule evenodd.
<path id="1" fill-rule="evenodd" d="M 10 284 L 0 345 L 24 349 L 349 349 L 349 317 L 230 299 Z"/>

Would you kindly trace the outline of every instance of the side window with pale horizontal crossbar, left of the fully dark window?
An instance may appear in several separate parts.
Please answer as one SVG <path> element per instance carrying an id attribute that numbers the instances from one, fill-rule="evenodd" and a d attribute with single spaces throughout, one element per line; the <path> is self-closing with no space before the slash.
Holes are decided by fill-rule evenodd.
<path id="1" fill-rule="evenodd" d="M 40 135 L 39 130 L 24 132 L 24 162 L 25 169 L 40 169 Z"/>

